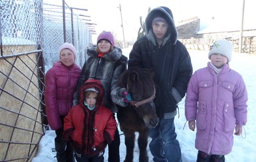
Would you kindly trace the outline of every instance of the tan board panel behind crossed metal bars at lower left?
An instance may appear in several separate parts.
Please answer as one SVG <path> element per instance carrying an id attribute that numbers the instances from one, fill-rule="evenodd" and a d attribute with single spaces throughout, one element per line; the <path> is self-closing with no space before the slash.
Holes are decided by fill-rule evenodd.
<path id="1" fill-rule="evenodd" d="M 37 52 L 41 50 L 0 58 L 0 161 L 26 161 L 35 155 L 43 136 Z"/>

